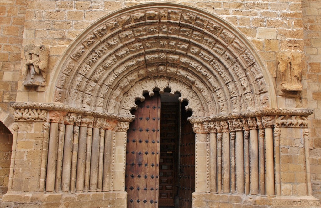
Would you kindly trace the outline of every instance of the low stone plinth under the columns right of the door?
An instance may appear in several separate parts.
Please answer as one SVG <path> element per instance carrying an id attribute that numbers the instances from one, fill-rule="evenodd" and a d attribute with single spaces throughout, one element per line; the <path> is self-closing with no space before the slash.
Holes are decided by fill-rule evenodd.
<path id="1" fill-rule="evenodd" d="M 320 200 L 313 196 L 260 196 L 216 193 L 193 193 L 192 207 L 320 208 Z"/>

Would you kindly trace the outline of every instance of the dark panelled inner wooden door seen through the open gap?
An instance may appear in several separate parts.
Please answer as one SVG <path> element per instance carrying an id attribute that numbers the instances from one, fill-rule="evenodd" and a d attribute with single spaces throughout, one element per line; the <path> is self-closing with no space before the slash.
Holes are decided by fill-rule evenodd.
<path id="1" fill-rule="evenodd" d="M 159 206 L 174 206 L 178 194 L 178 114 L 178 103 L 161 104 Z"/>

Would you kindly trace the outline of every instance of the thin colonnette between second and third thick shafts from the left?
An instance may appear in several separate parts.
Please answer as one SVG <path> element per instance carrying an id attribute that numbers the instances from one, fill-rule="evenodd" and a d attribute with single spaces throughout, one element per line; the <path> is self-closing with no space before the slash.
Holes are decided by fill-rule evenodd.
<path id="1" fill-rule="evenodd" d="M 74 126 L 74 140 L 73 140 L 73 153 L 71 159 L 71 180 L 70 192 L 74 192 L 76 184 L 76 167 L 78 156 L 78 139 L 79 139 L 79 126 Z"/>

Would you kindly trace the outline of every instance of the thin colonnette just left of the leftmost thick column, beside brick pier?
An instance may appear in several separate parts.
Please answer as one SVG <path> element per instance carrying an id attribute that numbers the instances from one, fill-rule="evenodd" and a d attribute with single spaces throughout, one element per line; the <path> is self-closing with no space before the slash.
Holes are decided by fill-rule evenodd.
<path id="1" fill-rule="evenodd" d="M 42 191 L 45 189 L 45 174 L 48 161 L 48 140 L 49 140 L 49 128 L 50 124 L 45 123 L 43 125 L 43 143 L 42 143 L 42 156 L 41 156 L 41 170 L 40 170 L 40 185 L 39 189 Z"/>

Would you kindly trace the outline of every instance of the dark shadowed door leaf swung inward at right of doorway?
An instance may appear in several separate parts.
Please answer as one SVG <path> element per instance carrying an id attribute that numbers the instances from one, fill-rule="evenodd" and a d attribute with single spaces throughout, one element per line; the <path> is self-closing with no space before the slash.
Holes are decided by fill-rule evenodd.
<path id="1" fill-rule="evenodd" d="M 187 121 L 190 114 L 182 107 L 178 197 L 179 207 L 184 208 L 192 207 L 192 193 L 195 191 L 195 133 Z"/>

